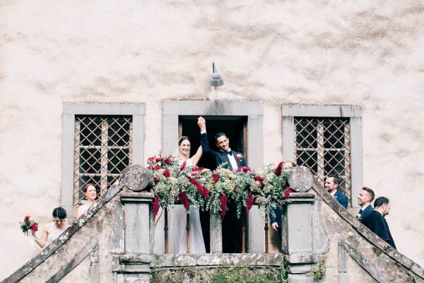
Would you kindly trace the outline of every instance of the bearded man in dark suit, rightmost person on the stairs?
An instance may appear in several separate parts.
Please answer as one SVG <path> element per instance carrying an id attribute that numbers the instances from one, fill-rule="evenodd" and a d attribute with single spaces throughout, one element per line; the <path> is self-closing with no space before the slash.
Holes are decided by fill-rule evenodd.
<path id="1" fill-rule="evenodd" d="M 391 237 L 389 225 L 387 225 L 387 221 L 384 219 L 384 216 L 389 214 L 389 211 L 389 199 L 387 197 L 377 197 L 377 200 L 374 202 L 374 210 L 370 215 L 365 217 L 363 224 L 386 241 L 390 246 L 396 248 L 393 238 Z"/>

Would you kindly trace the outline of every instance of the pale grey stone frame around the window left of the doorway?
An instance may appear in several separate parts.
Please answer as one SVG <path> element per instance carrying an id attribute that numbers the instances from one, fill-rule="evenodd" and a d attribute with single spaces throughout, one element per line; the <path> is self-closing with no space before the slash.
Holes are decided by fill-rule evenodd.
<path id="1" fill-rule="evenodd" d="M 73 208 L 73 154 L 76 115 L 131 115 L 133 124 L 132 163 L 144 162 L 144 105 L 126 103 L 64 103 L 62 129 L 61 207 L 69 216 Z"/>

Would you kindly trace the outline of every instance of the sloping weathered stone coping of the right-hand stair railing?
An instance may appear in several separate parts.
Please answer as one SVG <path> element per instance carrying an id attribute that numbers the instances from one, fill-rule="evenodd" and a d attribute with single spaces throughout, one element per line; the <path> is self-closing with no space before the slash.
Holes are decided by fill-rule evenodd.
<path id="1" fill-rule="evenodd" d="M 361 224 L 355 216 L 352 216 L 348 210 L 344 209 L 344 207 L 342 207 L 334 197 L 329 195 L 329 193 L 326 192 L 324 187 L 317 180 L 314 180 L 312 189 L 317 192 L 317 195 L 319 195 L 319 197 L 321 197 L 322 200 L 324 200 L 324 202 L 326 202 L 326 204 L 334 210 L 334 212 L 341 216 L 341 219 L 350 224 L 355 231 L 358 231 L 358 233 L 366 238 L 367 241 L 375 246 L 375 248 L 388 255 L 400 265 L 404 266 L 407 270 L 411 270 L 411 272 L 413 272 L 413 274 L 417 277 L 420 277 L 420 279 L 424 280 L 423 267 L 420 267 L 420 265 L 416 264 L 416 262 L 413 262 L 413 260 L 399 253 L 398 250 L 392 248 L 388 243 L 382 240 L 382 238 L 379 238 L 379 236 L 375 235 L 375 233 L 370 231 L 370 229 L 367 229 L 367 227 Z"/>

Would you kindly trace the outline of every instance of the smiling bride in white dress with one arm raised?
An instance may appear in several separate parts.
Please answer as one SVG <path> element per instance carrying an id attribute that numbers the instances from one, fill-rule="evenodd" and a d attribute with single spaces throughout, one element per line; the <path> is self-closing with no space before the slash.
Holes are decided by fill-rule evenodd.
<path id="1" fill-rule="evenodd" d="M 203 149 L 199 146 L 196 154 L 190 157 L 190 148 L 189 137 L 180 137 L 175 154 L 179 166 L 182 166 L 184 162 L 186 166 L 195 166 L 199 162 Z M 170 253 L 187 252 L 186 214 L 187 212 L 182 205 L 177 205 L 173 209 L 170 209 Z M 204 238 L 201 232 L 199 207 L 195 207 L 193 204 L 190 205 L 190 253 L 206 253 Z"/>

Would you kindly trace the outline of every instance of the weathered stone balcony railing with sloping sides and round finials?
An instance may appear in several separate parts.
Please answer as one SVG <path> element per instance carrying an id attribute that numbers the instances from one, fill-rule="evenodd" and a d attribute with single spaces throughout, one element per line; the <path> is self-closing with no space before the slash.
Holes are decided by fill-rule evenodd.
<path id="1" fill-rule="evenodd" d="M 424 272 L 343 209 L 307 168 L 290 173 L 282 253 L 264 253 L 264 216 L 249 213 L 245 254 L 223 254 L 220 216 L 211 215 L 211 253 L 157 254 L 146 169 L 131 166 L 76 223 L 4 282 L 208 282 L 216 270 L 280 272 L 290 282 L 424 282 Z M 311 190 L 312 188 L 312 190 Z M 111 265 L 112 261 L 112 265 Z M 89 269 L 90 272 L 81 272 Z M 88 276 L 88 277 L 87 277 Z"/>

